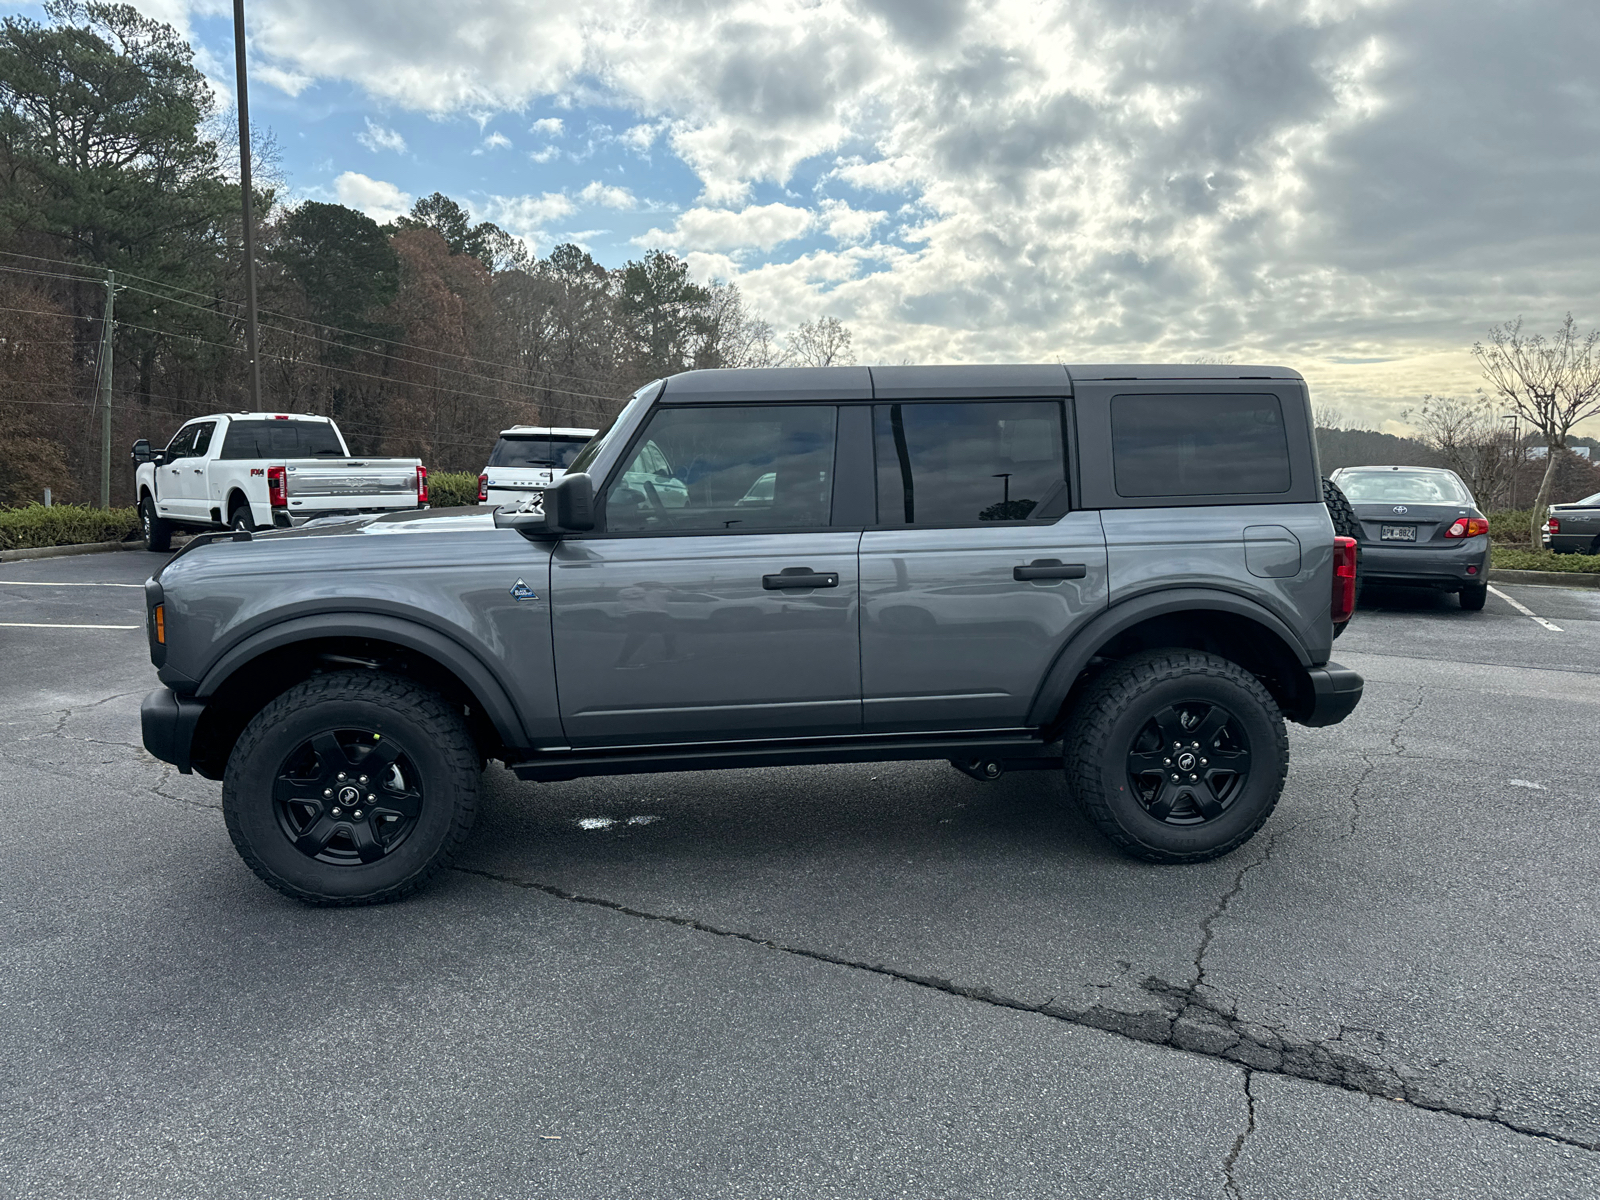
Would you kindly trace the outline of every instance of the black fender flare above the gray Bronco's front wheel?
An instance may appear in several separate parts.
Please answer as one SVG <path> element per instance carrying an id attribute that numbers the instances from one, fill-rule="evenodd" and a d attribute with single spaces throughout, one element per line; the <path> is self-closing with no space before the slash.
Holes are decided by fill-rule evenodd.
<path id="1" fill-rule="evenodd" d="M 483 661 L 454 638 L 416 621 L 379 613 L 317 613 L 296 616 L 250 634 L 229 646 L 200 678 L 197 699 L 214 696 L 246 662 L 267 651 L 325 637 L 366 637 L 394 642 L 406 650 L 427 654 L 451 672 L 472 693 L 483 714 L 494 725 L 506 746 L 528 746 L 531 739 L 517 714 L 517 706 Z"/>

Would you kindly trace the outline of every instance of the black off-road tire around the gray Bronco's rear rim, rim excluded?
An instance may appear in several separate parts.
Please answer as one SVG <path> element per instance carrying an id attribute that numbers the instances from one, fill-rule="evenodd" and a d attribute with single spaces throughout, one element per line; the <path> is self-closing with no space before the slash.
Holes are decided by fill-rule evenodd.
<path id="1" fill-rule="evenodd" d="M 1150 816 L 1128 782 L 1139 731 L 1173 704 L 1221 704 L 1248 739 L 1250 774 L 1222 813 L 1195 826 Z M 1205 862 L 1245 845 L 1272 816 L 1290 768 L 1283 714 L 1254 675 L 1197 650 L 1152 650 L 1094 678 L 1066 730 L 1067 787 L 1114 846 L 1147 862 Z"/>

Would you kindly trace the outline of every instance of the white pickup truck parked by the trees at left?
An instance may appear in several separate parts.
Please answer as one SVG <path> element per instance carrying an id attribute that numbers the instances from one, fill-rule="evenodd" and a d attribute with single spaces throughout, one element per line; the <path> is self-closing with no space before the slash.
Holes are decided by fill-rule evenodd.
<path id="1" fill-rule="evenodd" d="M 176 530 L 290 528 L 317 517 L 427 506 L 414 458 L 357 458 L 325 416 L 216 413 L 150 450 L 133 443 L 139 523 L 152 550 Z"/>

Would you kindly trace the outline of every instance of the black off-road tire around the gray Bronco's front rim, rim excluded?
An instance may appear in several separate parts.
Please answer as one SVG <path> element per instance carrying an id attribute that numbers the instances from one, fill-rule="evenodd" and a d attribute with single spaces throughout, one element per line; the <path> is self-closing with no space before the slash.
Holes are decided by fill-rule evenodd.
<path id="1" fill-rule="evenodd" d="M 330 864 L 296 848 L 274 787 L 310 738 L 370 730 L 405 747 L 421 811 L 408 837 L 374 862 Z M 222 816 L 240 858 L 266 883 L 306 904 L 382 904 L 411 894 L 453 861 L 478 808 L 480 757 L 466 722 L 438 693 L 381 672 L 315 675 L 251 718 L 227 760 Z"/>

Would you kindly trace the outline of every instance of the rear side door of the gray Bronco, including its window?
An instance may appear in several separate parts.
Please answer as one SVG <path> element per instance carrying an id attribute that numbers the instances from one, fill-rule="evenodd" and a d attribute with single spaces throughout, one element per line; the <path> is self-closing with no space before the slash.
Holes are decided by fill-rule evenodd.
<path id="1" fill-rule="evenodd" d="M 866 728 L 1019 726 L 1056 651 L 1106 606 L 1099 514 L 1069 510 L 1064 402 L 880 403 L 872 426 Z"/>

